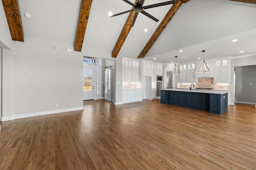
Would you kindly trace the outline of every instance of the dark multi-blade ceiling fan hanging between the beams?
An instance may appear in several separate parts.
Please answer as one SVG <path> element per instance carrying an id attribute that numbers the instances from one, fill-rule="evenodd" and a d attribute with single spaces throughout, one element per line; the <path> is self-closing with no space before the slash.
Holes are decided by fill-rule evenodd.
<path id="1" fill-rule="evenodd" d="M 110 17 L 114 17 L 114 16 L 119 16 L 121 14 L 125 14 L 127 12 L 132 12 L 132 11 L 135 11 L 135 15 L 134 15 L 134 18 L 132 20 L 132 27 L 135 23 L 135 20 L 140 13 L 144 14 L 145 16 L 147 16 L 148 18 L 151 18 L 152 20 L 154 21 L 159 21 L 158 19 L 156 19 L 155 17 L 153 17 L 152 15 L 148 14 L 147 12 L 145 12 L 144 10 L 145 9 L 149 9 L 149 8 L 155 8 L 155 7 L 158 7 L 158 6 L 164 6 L 164 5 L 169 5 L 169 4 L 174 4 L 175 0 L 171 0 L 171 1 L 167 1 L 167 2 L 162 2 L 162 3 L 158 3 L 158 4 L 152 4 L 152 5 L 147 5 L 147 6 L 142 6 L 143 3 L 144 3 L 144 0 L 138 0 L 138 2 L 136 4 L 133 4 L 132 2 L 128 1 L 128 0 L 123 0 L 124 2 L 130 4 L 131 6 L 133 6 L 134 8 L 131 9 L 131 10 L 128 10 L 128 11 L 124 11 L 124 12 L 121 12 L 121 13 L 118 13 L 118 14 L 114 14 Z"/>

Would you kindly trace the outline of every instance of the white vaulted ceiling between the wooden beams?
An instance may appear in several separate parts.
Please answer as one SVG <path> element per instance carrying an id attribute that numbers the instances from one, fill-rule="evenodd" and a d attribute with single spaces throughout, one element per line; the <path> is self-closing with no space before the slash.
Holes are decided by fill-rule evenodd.
<path id="1" fill-rule="evenodd" d="M 145 0 L 144 6 L 166 1 Z M 81 0 L 18 2 L 25 36 L 74 45 Z M 171 6 L 145 10 L 160 20 L 158 22 L 139 14 L 119 55 L 136 59 Z M 122 0 L 93 0 L 83 49 L 106 51 L 109 56 L 92 57 L 112 59 L 112 50 L 129 13 L 113 18 L 108 13 L 117 14 L 131 8 Z M 25 18 L 25 12 L 31 18 Z M 147 32 L 144 32 L 145 28 Z M 231 42 L 233 39 L 238 41 Z M 202 58 L 202 50 L 206 51 L 205 59 L 256 53 L 256 4 L 229 0 L 190 0 L 183 3 L 144 59 L 170 63 L 175 62 L 174 56 L 178 56 L 178 63 L 186 63 Z M 82 50 L 81 55 L 86 55 L 86 50 Z"/>

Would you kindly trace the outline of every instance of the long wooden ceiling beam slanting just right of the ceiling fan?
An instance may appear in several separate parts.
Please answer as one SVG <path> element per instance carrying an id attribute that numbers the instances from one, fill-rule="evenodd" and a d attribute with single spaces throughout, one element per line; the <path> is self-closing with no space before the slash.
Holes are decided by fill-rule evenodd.
<path id="1" fill-rule="evenodd" d="M 148 43 L 145 45 L 144 49 L 140 52 L 140 55 L 138 56 L 139 59 L 142 59 L 145 57 L 145 55 L 148 53 L 150 48 L 155 43 L 156 39 L 158 39 L 159 35 L 162 33 L 166 25 L 170 22 L 174 14 L 178 11 L 181 4 L 183 3 L 182 0 L 176 0 L 175 3 L 172 5 L 170 10 L 167 12 L 166 16 L 162 20 L 162 22 L 158 25 L 156 28 L 156 31 L 152 35 L 152 37 L 148 40 Z"/>

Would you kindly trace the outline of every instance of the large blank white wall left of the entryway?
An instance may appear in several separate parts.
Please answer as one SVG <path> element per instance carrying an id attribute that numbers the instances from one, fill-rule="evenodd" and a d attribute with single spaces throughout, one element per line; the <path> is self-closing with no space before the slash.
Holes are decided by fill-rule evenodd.
<path id="1" fill-rule="evenodd" d="M 12 115 L 83 108 L 83 55 L 66 47 L 35 37 L 12 42 Z"/>

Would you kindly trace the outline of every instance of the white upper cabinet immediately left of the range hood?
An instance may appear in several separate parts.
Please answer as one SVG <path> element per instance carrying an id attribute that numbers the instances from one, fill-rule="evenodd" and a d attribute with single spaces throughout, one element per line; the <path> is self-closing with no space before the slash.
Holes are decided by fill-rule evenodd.
<path id="1" fill-rule="evenodd" d="M 182 83 L 196 82 L 195 72 L 196 72 L 195 62 L 180 64 L 179 82 L 182 82 Z"/>

